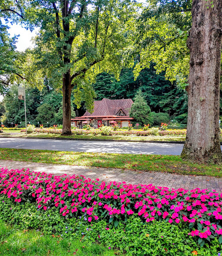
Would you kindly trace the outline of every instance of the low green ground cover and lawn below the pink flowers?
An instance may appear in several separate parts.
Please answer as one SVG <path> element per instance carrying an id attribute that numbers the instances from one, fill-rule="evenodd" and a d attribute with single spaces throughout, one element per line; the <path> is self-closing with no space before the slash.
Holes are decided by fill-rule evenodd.
<path id="1" fill-rule="evenodd" d="M 186 223 L 143 222 L 132 215 L 127 222 L 119 222 L 115 227 L 104 220 L 89 223 L 84 215 L 65 218 L 58 208 L 44 211 L 38 210 L 36 205 L 34 202 L 14 203 L 6 195 L 0 196 L 0 220 L 13 225 L 9 228 L 0 224 L 3 255 L 73 255 L 77 248 L 76 255 L 90 256 L 114 253 L 126 256 L 190 256 L 194 253 L 212 256 L 222 251 L 217 238 L 203 247 L 198 245 L 198 239 L 188 235 Z M 29 228 L 34 230 L 28 232 Z"/>

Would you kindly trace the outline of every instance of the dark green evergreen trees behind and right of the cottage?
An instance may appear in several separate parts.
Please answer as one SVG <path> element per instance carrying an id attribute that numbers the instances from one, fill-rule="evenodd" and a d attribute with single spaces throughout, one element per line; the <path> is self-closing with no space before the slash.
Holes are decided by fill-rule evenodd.
<path id="1" fill-rule="evenodd" d="M 176 86 L 175 82 L 167 81 L 164 74 L 164 72 L 157 74 L 154 64 L 151 64 L 150 68 L 144 68 L 136 80 L 132 68 L 122 69 L 119 80 L 116 80 L 111 74 L 100 73 L 93 84 L 97 95 L 96 99 L 101 100 L 104 97 L 111 99 L 134 98 L 138 89 L 141 89 L 152 111 L 168 112 L 171 119 L 178 118 L 180 122 L 186 123 L 187 92 Z M 154 116 L 156 115 L 154 114 Z M 160 125 L 161 122 L 166 121 L 166 117 L 162 120 L 158 118 L 152 124 Z"/>

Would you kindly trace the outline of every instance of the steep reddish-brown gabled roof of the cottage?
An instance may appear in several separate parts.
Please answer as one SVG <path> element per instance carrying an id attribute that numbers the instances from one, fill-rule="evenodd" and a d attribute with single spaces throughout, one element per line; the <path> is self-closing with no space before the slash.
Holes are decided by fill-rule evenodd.
<path id="1" fill-rule="evenodd" d="M 127 99 L 108 99 L 103 98 L 102 100 L 94 101 L 94 111 L 90 113 L 86 111 L 83 116 L 92 115 L 116 115 L 116 113 L 122 109 L 126 115 L 129 115 L 129 110 L 133 104 L 131 98 Z"/>

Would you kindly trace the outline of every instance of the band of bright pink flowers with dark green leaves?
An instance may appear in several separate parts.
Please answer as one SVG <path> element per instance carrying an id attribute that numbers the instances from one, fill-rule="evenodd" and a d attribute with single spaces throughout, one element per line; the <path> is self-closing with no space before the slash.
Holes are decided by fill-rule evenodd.
<path id="1" fill-rule="evenodd" d="M 17 203 L 37 201 L 37 207 L 59 207 L 66 217 L 86 214 L 92 219 L 125 220 L 137 214 L 144 221 L 188 222 L 190 235 L 222 241 L 222 193 L 207 189 L 191 191 L 132 185 L 125 182 L 101 182 L 84 176 L 55 176 L 24 170 L 0 169 L 0 194 Z M 202 239 L 200 239 L 200 242 Z"/>

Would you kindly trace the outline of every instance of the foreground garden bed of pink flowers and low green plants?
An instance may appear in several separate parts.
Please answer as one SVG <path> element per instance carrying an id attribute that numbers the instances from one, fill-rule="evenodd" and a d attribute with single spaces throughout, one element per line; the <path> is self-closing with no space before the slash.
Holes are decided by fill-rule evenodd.
<path id="1" fill-rule="evenodd" d="M 222 194 L 0 171 L 0 219 L 45 234 L 101 242 L 127 255 L 217 255 Z"/>

